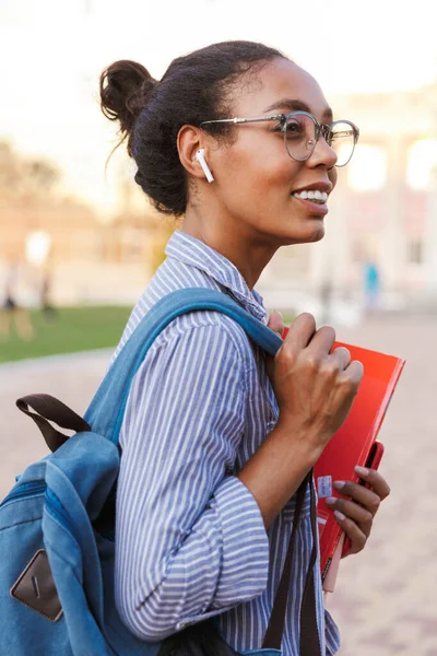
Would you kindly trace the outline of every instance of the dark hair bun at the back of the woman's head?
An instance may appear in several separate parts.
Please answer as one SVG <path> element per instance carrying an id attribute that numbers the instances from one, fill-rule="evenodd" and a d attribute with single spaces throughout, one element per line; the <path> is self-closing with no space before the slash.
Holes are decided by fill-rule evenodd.
<path id="1" fill-rule="evenodd" d="M 126 137 L 156 84 L 150 72 L 135 61 L 121 59 L 101 75 L 101 107 L 109 120 L 119 120 Z"/>

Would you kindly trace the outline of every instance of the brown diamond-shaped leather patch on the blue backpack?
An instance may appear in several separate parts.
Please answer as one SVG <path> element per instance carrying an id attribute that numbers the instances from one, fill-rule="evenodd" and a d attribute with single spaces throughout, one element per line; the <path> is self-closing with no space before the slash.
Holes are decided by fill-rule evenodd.
<path id="1" fill-rule="evenodd" d="M 51 622 L 60 619 L 62 607 L 45 549 L 39 549 L 35 553 L 13 584 L 11 595 Z"/>

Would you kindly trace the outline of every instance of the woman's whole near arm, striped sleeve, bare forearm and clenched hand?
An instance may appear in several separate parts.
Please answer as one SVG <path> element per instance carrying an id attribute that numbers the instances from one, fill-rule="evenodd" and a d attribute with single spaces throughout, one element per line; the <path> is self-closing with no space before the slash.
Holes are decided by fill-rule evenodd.
<path id="1" fill-rule="evenodd" d="M 274 362 L 277 425 L 238 478 L 226 470 L 253 365 L 240 328 L 185 330 L 147 355 L 125 418 L 116 581 L 120 613 L 144 640 L 264 589 L 264 527 L 343 423 L 363 375 L 346 349 L 330 353 L 333 341 L 310 315 L 294 321 Z"/>

